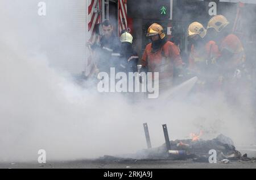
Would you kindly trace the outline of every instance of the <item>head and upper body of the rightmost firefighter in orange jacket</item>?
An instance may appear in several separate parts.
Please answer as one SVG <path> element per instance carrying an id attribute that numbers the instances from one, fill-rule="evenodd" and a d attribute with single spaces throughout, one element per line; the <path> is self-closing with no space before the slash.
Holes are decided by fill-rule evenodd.
<path id="1" fill-rule="evenodd" d="M 220 45 L 220 64 L 226 73 L 239 77 L 245 68 L 245 51 L 240 39 L 232 34 L 232 27 L 223 15 L 216 15 L 209 20 L 207 29 L 218 33 Z"/>

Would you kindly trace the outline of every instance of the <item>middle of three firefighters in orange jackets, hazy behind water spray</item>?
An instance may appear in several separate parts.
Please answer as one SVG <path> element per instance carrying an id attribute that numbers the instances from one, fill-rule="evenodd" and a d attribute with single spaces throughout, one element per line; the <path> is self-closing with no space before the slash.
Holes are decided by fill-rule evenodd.
<path id="1" fill-rule="evenodd" d="M 218 73 L 216 61 L 220 56 L 218 45 L 203 24 L 193 22 L 188 27 L 188 38 L 192 43 L 189 55 L 189 70 L 199 77 L 198 90 L 217 87 Z"/>

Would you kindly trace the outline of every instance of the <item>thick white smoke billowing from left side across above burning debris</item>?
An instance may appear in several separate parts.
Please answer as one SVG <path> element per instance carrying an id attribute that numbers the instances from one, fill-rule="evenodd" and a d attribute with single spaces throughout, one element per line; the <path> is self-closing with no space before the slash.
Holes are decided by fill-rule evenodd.
<path id="1" fill-rule="evenodd" d="M 77 85 L 67 68 L 77 63 L 80 72 L 85 55 L 77 14 L 68 11 L 75 3 L 46 2 L 44 18 L 34 0 L 0 2 L 0 162 L 37 161 L 39 149 L 47 160 L 135 153 L 146 148 L 146 122 L 153 146 L 164 143 L 164 123 L 170 139 L 203 130 L 204 139 L 224 133 L 236 144 L 254 141 L 250 110 L 237 111 L 220 94 L 131 103 Z"/>

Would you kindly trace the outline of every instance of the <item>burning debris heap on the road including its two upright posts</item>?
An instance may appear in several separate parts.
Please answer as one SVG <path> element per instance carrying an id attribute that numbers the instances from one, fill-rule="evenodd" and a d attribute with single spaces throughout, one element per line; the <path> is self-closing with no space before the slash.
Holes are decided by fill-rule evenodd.
<path id="1" fill-rule="evenodd" d="M 209 162 L 209 157 L 216 155 L 217 161 L 224 160 L 225 163 L 228 161 L 238 161 L 238 160 L 250 160 L 247 158 L 246 154 L 242 154 L 236 150 L 234 142 L 229 137 L 224 135 L 218 135 L 212 140 L 203 140 L 201 136 L 203 131 L 200 133 L 191 133 L 191 139 L 184 140 L 171 140 L 168 136 L 167 125 L 163 124 L 164 139 L 166 143 L 157 148 L 151 148 L 150 134 L 148 132 L 147 123 L 143 124 L 147 146 L 148 149 L 141 150 L 137 154 L 134 154 L 131 158 L 135 159 L 169 159 L 169 160 L 187 160 L 192 159 L 195 162 Z"/>

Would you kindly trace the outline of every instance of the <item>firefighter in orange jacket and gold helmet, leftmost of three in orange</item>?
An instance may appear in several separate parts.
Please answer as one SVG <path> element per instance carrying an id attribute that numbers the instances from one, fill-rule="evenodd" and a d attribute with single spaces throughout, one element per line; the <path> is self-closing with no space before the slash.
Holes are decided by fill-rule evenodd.
<path id="1" fill-rule="evenodd" d="M 182 74 L 183 62 L 179 48 L 167 41 L 163 27 L 157 23 L 151 24 L 146 36 L 150 37 L 151 43 L 144 50 L 142 67 L 148 72 L 158 72 L 159 89 L 167 89 L 173 85 L 174 76 Z"/>

